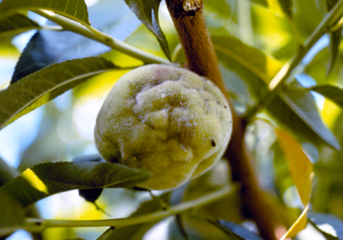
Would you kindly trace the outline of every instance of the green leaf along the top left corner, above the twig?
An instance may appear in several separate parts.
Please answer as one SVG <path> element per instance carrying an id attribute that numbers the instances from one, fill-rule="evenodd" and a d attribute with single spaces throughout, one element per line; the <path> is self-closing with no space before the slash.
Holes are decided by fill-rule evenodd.
<path id="1" fill-rule="evenodd" d="M 0 3 L 0 19 L 18 11 L 49 10 L 88 25 L 88 11 L 84 0 L 3 0 Z"/>

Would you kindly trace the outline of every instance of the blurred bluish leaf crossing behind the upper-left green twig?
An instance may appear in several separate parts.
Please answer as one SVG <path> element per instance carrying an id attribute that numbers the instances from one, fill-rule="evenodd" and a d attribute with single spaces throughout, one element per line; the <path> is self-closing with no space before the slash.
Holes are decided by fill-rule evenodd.
<path id="1" fill-rule="evenodd" d="M 88 11 L 93 27 L 119 40 L 124 40 L 141 24 L 122 1 L 100 1 Z M 116 14 L 113 14 L 114 11 Z M 106 51 L 110 51 L 110 47 L 73 32 L 40 31 L 32 36 L 25 47 L 16 64 L 11 84 L 50 64 L 99 56 Z"/>

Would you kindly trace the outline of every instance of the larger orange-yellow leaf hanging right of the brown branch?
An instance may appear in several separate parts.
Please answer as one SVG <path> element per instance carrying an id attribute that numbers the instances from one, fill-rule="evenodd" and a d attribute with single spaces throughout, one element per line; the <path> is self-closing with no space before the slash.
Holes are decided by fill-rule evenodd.
<path id="1" fill-rule="evenodd" d="M 296 185 L 296 189 L 298 189 L 301 202 L 306 206 L 311 197 L 314 166 L 305 152 L 303 152 L 298 141 L 291 134 L 280 128 L 276 128 L 275 132 L 277 141 L 283 154 L 285 154 L 289 171 Z"/>

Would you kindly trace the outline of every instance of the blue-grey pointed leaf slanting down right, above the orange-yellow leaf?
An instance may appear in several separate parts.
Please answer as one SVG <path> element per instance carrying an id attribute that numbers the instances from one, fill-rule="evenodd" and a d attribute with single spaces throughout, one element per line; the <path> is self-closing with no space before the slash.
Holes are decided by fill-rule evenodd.
<path id="1" fill-rule="evenodd" d="M 294 86 L 300 87 L 300 84 Z M 340 149 L 340 143 L 338 143 L 331 130 L 322 122 L 311 93 L 304 91 L 304 89 L 285 88 L 280 91 L 279 96 L 327 144 L 335 149 Z"/>

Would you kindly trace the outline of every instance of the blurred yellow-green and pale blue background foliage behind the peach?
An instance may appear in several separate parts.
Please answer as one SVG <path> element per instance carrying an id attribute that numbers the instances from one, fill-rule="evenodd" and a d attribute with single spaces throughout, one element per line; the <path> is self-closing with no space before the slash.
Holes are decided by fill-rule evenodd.
<path id="1" fill-rule="evenodd" d="M 134 47 L 165 58 L 156 38 L 144 25 L 141 25 L 124 1 L 86 2 L 89 6 L 90 21 L 95 28 L 119 40 L 125 40 Z M 283 64 L 294 56 L 329 8 L 330 5 L 323 0 L 204 1 L 206 23 L 237 112 L 243 115 L 267 93 L 266 84 Z M 36 14 L 29 13 L 28 16 L 40 25 L 51 25 Z M 106 18 L 107 16 L 110 18 Z M 159 17 L 172 58 L 182 64 L 184 60 L 182 51 L 164 2 Z M 8 36 L 1 38 L 1 89 L 10 84 L 16 62 L 35 33 L 36 30 L 31 30 L 15 38 Z M 49 64 L 99 54 L 120 67 L 137 67 L 143 64 L 139 60 L 119 51 L 110 50 L 77 34 L 50 30 L 40 31 L 40 34 L 44 45 L 34 51 L 49 53 L 51 57 L 47 59 Z M 342 29 L 339 34 L 342 35 Z M 332 61 L 330 38 L 329 34 L 324 34 L 320 38 L 300 63 L 301 69 L 295 75 L 293 82 L 297 81 L 303 87 L 322 84 L 343 85 L 343 45 L 338 37 L 338 45 L 334 50 L 336 56 Z M 48 39 L 52 40 L 49 42 Z M 57 44 L 61 46 L 54 49 Z M 8 125 L 0 132 L 1 158 L 10 167 L 22 172 L 38 163 L 71 161 L 78 156 L 97 154 L 93 140 L 97 112 L 110 88 L 127 71 L 111 71 L 92 77 L 54 101 Z M 311 94 L 320 117 L 343 146 L 343 114 L 340 106 L 318 93 L 311 92 Z M 276 141 L 274 129 L 280 126 L 286 127 L 295 134 L 311 163 L 314 163 L 315 178 L 311 210 L 329 213 L 343 219 L 342 152 L 322 142 L 318 143 L 316 141 L 318 136 L 311 139 L 312 135 L 308 135 L 310 141 L 309 138 L 304 138 L 309 134 L 309 130 L 294 131 L 297 129 L 294 125 L 300 124 L 296 121 L 300 120 L 290 119 L 287 111 L 279 105 L 275 108 L 274 112 L 262 110 L 250 121 L 246 141 L 255 156 L 260 184 L 268 194 L 270 204 L 277 209 L 279 220 L 290 227 L 303 208 L 303 203 L 294 187 L 294 179 L 289 173 L 285 154 Z M 287 123 L 282 121 L 283 117 L 286 117 Z M 184 186 L 181 189 L 183 192 L 181 200 L 191 200 L 229 184 L 228 172 L 226 162 L 222 161 L 209 173 Z M 180 189 L 169 194 L 176 195 L 174 192 L 177 191 Z M 181 201 L 180 196 L 178 198 L 176 202 Z M 149 193 L 130 189 L 104 189 L 96 203 L 114 218 L 129 216 L 137 211 L 137 208 L 141 209 L 143 202 L 150 203 L 152 208 L 158 207 L 156 202 L 152 203 Z M 243 224 L 250 230 L 256 230 L 248 216 L 241 213 L 240 202 L 237 193 L 233 193 L 220 202 L 196 211 L 206 217 L 233 221 Z M 108 218 L 104 211 L 97 210 L 94 204 L 82 199 L 78 191 L 47 197 L 40 200 L 36 206 L 43 218 Z M 106 229 L 49 228 L 43 233 L 43 239 L 75 239 L 76 237 L 97 239 Z M 130 239 L 163 239 L 163 237 L 164 239 L 210 239 L 209 234 L 211 239 L 228 239 L 219 228 L 214 225 L 209 226 L 207 222 L 200 222 L 199 219 L 192 219 L 192 215 L 188 214 L 145 224 L 137 227 L 133 232 L 134 235 Z M 123 232 L 123 236 L 127 236 L 126 234 L 127 232 Z M 188 237 L 185 238 L 185 235 Z M 309 225 L 303 233 L 300 232 L 297 239 L 320 239 L 320 237 L 322 235 L 319 235 L 318 230 Z M 32 239 L 32 236 L 25 231 L 19 231 L 8 239 Z"/>

